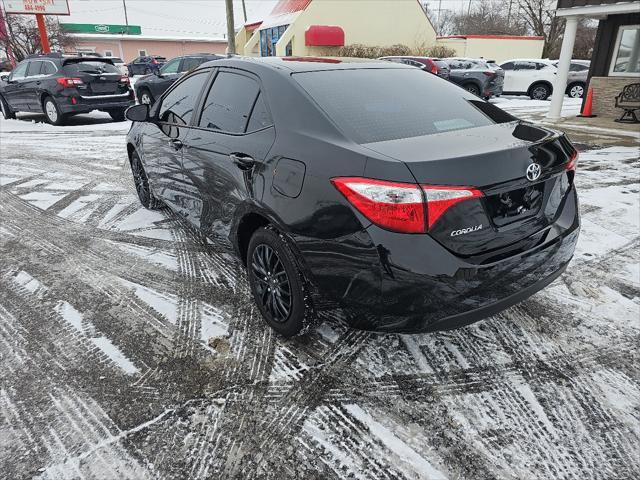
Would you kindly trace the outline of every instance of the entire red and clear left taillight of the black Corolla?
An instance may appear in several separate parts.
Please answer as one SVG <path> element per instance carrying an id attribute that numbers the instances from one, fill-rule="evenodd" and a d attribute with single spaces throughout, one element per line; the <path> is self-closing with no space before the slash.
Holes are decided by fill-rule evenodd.
<path id="1" fill-rule="evenodd" d="M 371 222 L 400 233 L 425 233 L 457 203 L 482 196 L 471 187 L 419 186 L 360 177 L 334 178 L 331 183 Z"/>

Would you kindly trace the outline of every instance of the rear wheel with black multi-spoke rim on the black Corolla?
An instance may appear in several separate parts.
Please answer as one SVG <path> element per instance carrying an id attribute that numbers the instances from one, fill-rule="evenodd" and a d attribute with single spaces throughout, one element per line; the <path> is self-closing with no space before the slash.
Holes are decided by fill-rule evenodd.
<path id="1" fill-rule="evenodd" d="M 305 334 L 316 323 L 308 283 L 284 235 L 268 226 L 249 241 L 247 272 L 265 322 L 284 337 Z"/>

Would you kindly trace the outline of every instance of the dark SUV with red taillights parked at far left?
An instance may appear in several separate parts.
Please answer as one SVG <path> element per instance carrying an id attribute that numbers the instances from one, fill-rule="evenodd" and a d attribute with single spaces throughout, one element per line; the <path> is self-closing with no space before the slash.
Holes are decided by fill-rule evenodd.
<path id="1" fill-rule="evenodd" d="M 49 123 L 62 125 L 70 115 L 101 110 L 122 121 L 134 104 L 129 77 L 108 58 L 32 55 L 0 79 L 4 118 L 39 112 Z"/>

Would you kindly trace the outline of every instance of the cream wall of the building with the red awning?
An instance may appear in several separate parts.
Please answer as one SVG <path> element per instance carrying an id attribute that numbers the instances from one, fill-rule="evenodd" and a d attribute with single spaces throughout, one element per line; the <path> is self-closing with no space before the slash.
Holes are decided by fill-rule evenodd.
<path id="1" fill-rule="evenodd" d="M 305 31 L 311 25 L 341 27 L 345 45 L 403 44 L 413 48 L 429 47 L 436 42 L 436 32 L 417 0 L 312 0 L 304 11 L 283 16 L 282 23 L 278 21 L 278 18 L 269 18 L 260 28 L 291 22 L 276 46 L 279 56 L 284 55 L 289 40 L 293 42 L 293 55 L 296 56 L 335 54 L 337 47 L 308 47 L 305 44 Z M 256 31 L 253 38 L 243 42 L 247 37 L 243 30 L 236 36 L 238 51 L 252 55 L 259 33 Z M 240 50 L 244 45 L 249 48 Z"/>

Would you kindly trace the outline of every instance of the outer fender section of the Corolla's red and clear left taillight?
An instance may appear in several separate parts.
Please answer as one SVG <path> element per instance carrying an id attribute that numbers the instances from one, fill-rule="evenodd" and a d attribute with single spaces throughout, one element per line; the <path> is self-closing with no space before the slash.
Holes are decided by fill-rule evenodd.
<path id="1" fill-rule="evenodd" d="M 334 178 L 331 183 L 376 225 L 402 233 L 424 233 L 422 191 L 413 183 L 369 178 Z"/>

